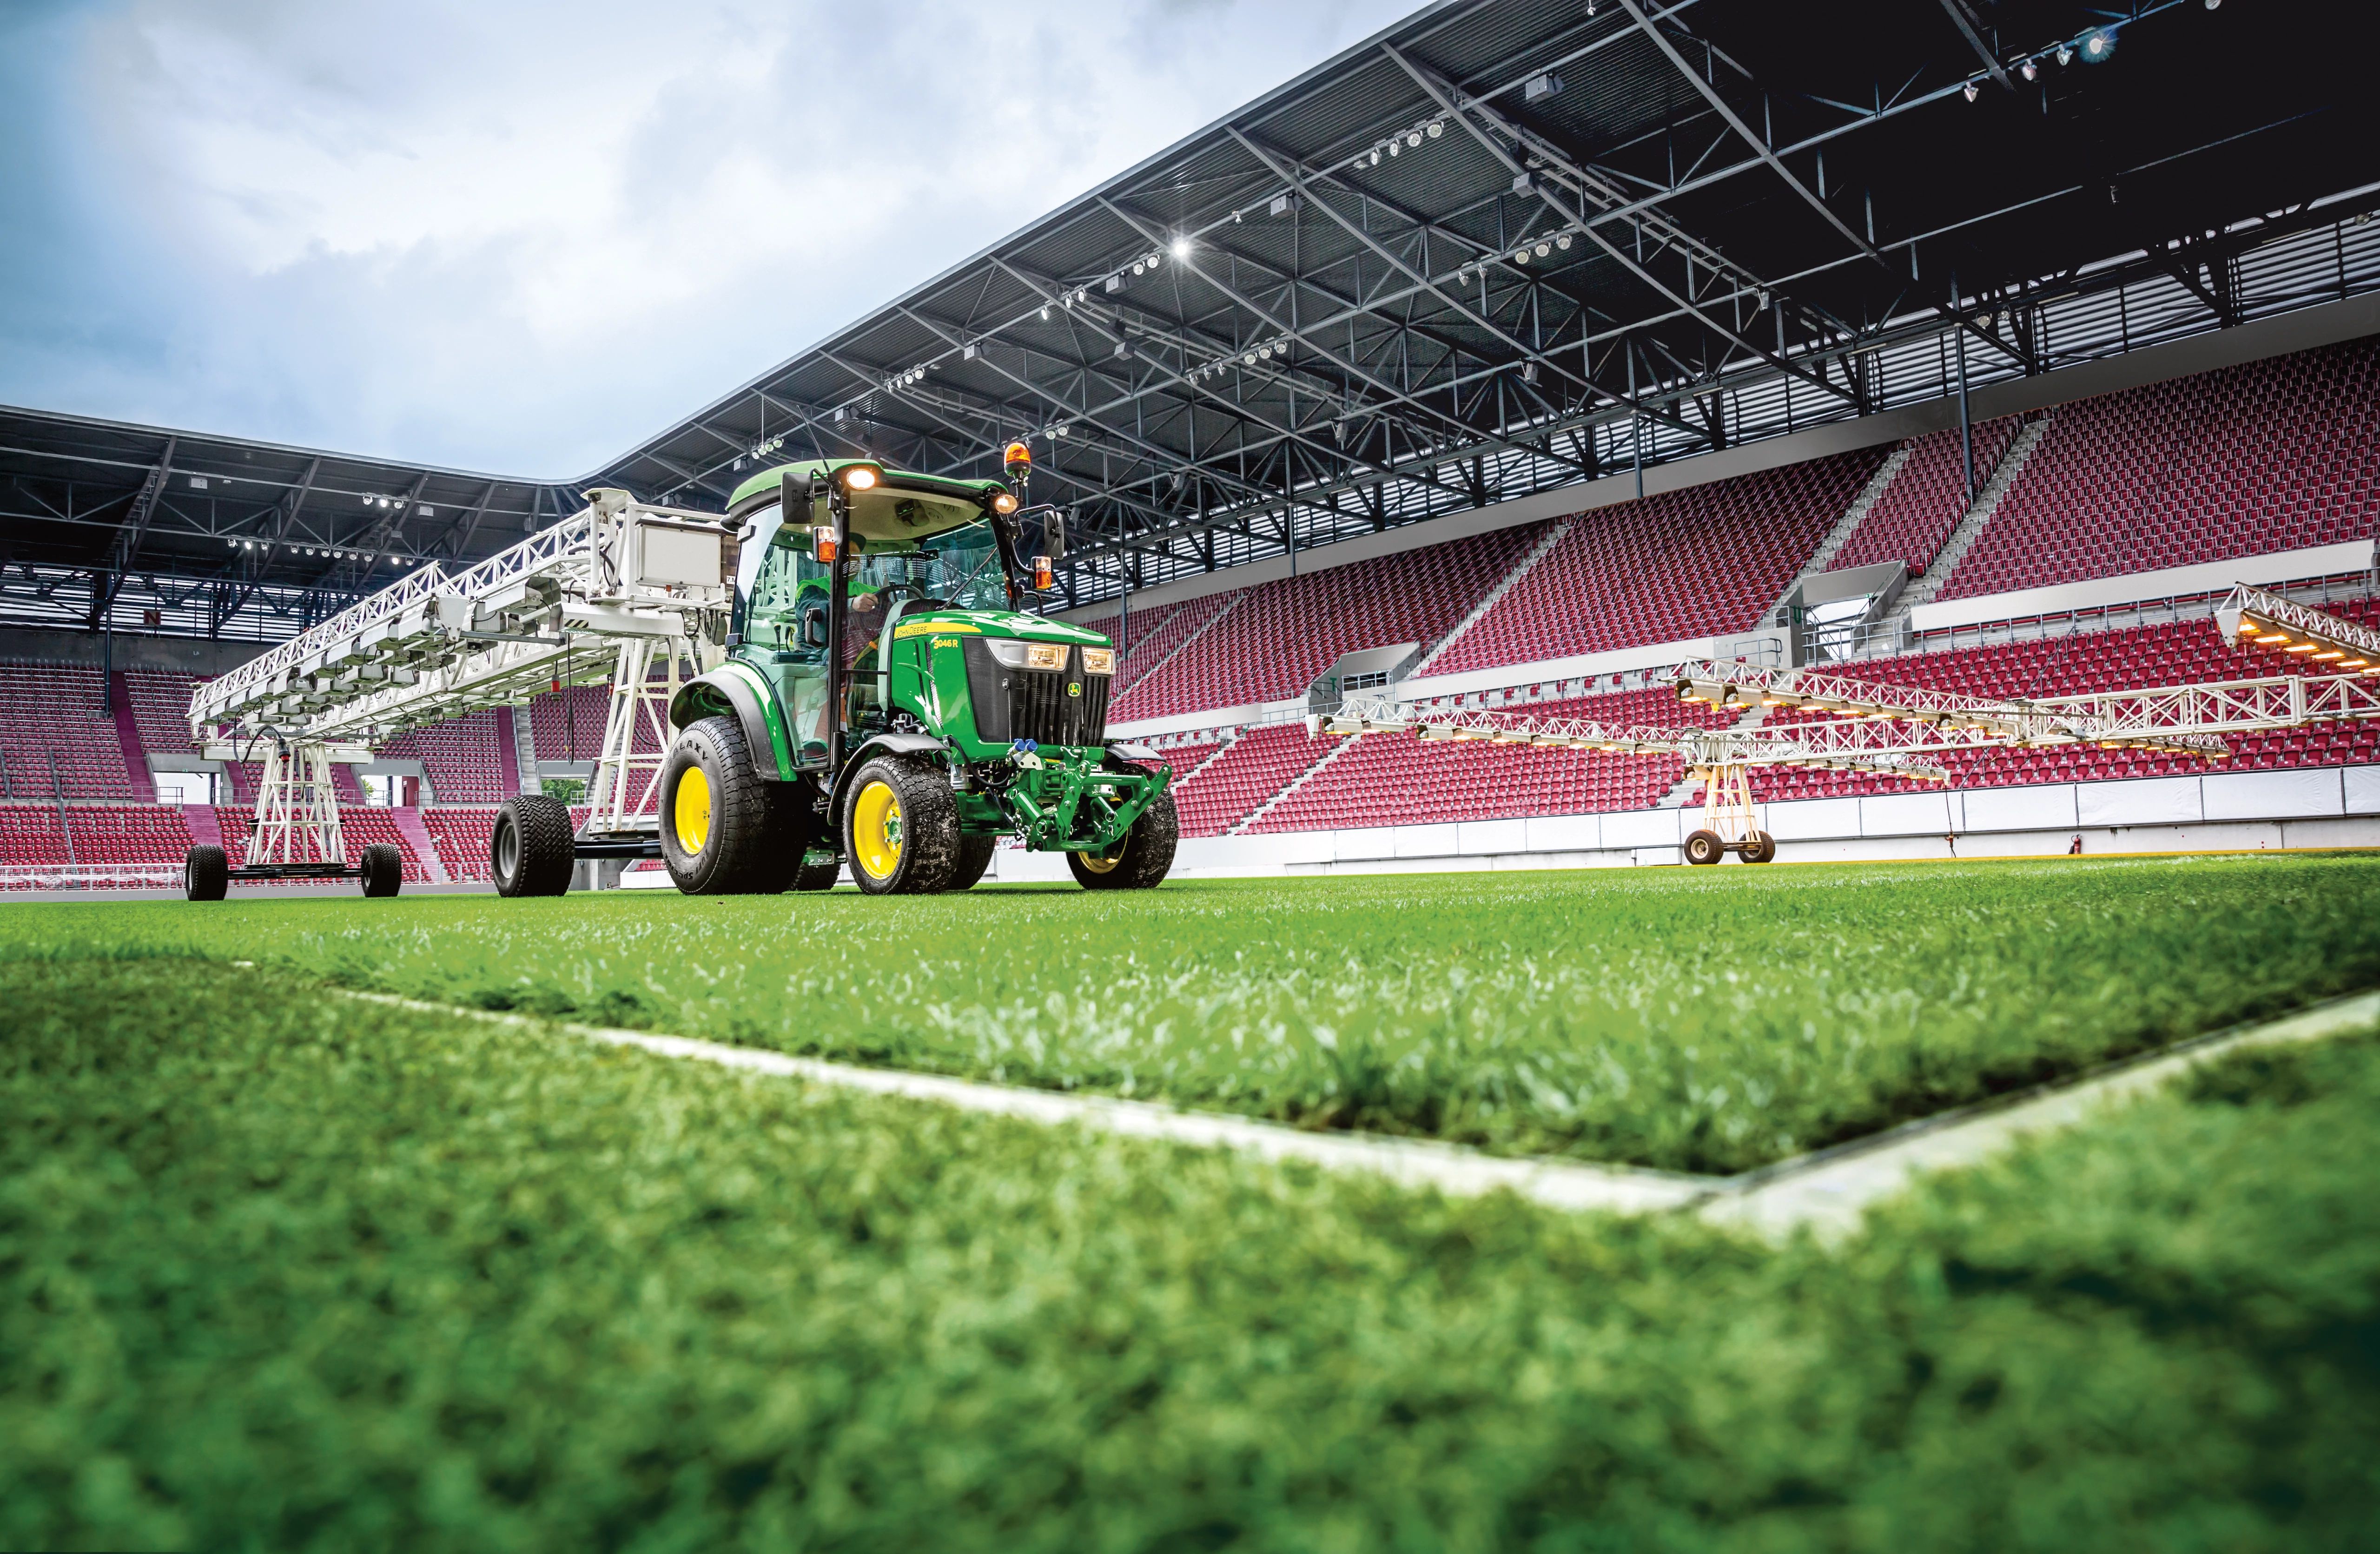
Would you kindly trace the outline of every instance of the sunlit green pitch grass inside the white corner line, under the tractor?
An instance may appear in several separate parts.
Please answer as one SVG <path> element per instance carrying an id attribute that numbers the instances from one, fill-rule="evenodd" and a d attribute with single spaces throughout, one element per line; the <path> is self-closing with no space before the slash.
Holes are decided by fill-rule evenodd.
<path id="1" fill-rule="evenodd" d="M 1647 869 L 5 907 L 0 959 L 347 988 L 990 1080 L 1737 1171 L 2380 985 L 2380 861 Z"/>

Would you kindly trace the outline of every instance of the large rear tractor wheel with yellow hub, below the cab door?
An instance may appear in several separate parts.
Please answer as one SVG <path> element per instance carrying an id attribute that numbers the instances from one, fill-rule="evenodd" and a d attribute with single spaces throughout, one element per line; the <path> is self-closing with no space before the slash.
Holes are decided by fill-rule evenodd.
<path id="1" fill-rule="evenodd" d="M 743 723 L 719 714 L 678 731 L 662 766 L 662 861 L 685 895 L 778 892 L 802 866 L 793 788 L 752 766 Z"/>

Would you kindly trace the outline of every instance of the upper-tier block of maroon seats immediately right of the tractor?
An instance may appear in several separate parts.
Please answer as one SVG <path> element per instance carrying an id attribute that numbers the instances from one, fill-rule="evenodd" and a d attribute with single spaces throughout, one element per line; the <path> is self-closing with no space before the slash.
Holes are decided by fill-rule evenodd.
<path id="1" fill-rule="evenodd" d="M 1228 614 L 1209 616 L 1211 628 L 1185 633 L 1183 647 L 1135 681 L 1109 719 L 1278 702 L 1304 695 L 1345 652 L 1395 643 L 1428 650 L 1511 571 L 1535 535 L 1535 528 L 1504 528 L 1459 545 L 1259 583 L 1233 600 Z"/>

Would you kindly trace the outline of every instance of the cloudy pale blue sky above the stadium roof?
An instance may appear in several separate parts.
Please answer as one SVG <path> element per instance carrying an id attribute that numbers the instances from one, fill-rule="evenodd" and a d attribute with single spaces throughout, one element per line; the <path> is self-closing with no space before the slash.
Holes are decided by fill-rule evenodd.
<path id="1" fill-rule="evenodd" d="M 0 402 L 569 478 L 1418 0 L 0 0 Z"/>

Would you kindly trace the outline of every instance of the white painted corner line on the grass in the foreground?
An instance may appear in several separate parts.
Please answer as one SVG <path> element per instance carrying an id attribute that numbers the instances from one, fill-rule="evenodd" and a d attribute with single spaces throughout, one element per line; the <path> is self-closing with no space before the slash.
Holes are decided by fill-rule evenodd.
<path id="1" fill-rule="evenodd" d="M 1873 1140 L 1802 1154 L 1742 1176 L 1685 1176 L 1630 1166 L 1514 1159 L 1435 1140 L 1307 1133 L 1245 1116 L 1180 1111 L 1157 1102 L 985 1085 L 981 1080 L 909 1073 L 904 1069 L 862 1069 L 857 1064 L 790 1057 L 764 1047 L 728 1047 L 685 1035 L 652 1035 L 650 1030 L 459 1009 L 455 1004 L 433 1004 L 388 992 L 340 992 L 426 1014 L 526 1028 L 559 1028 L 609 1047 L 635 1047 L 657 1057 L 716 1064 L 745 1073 L 940 1102 L 990 1116 L 1016 1116 L 1045 1126 L 1083 1123 L 1128 1138 L 1240 1149 L 1269 1161 L 1297 1159 L 1330 1171 L 1366 1171 L 1404 1188 L 1435 1188 L 1457 1197 L 1509 1190 L 1533 1204 L 1568 1211 L 1654 1214 L 1664 1209 L 1699 1209 L 1714 1223 L 1730 1223 L 1771 1237 L 1785 1237 L 1802 1226 L 1828 1237 L 1844 1235 L 1859 1226 L 1859 1216 L 1868 1204 L 1909 1188 L 1928 1171 L 1980 1164 L 2021 1138 L 2075 1126 L 2099 1107 L 2154 1090 L 2221 1054 L 2242 1047 L 2309 1042 L 2380 1023 L 2380 992 L 2359 992 L 2263 1026 L 2192 1038 L 2178 1047 L 2144 1054 L 2011 1102 L 1952 1111 L 1942 1118 L 1894 1128 Z"/>

